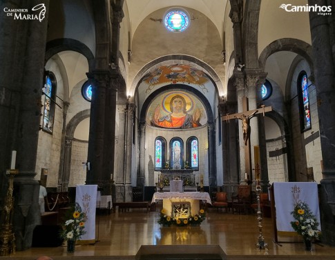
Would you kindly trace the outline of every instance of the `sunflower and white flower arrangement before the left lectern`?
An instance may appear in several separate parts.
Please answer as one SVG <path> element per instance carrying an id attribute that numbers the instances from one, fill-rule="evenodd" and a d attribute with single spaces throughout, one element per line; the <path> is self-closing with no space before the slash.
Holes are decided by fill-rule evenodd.
<path id="1" fill-rule="evenodd" d="M 82 208 L 78 203 L 72 207 L 66 214 L 66 221 L 60 237 L 65 240 L 76 241 L 86 234 L 84 231 L 86 214 L 82 212 Z"/>

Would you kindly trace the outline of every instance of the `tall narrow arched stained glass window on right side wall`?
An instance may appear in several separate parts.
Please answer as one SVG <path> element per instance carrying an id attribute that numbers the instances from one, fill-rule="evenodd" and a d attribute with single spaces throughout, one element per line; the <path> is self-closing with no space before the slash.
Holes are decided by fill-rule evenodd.
<path id="1" fill-rule="evenodd" d="M 309 109 L 308 79 L 305 71 L 300 72 L 298 77 L 298 102 L 300 112 L 301 132 L 312 128 L 311 111 Z"/>

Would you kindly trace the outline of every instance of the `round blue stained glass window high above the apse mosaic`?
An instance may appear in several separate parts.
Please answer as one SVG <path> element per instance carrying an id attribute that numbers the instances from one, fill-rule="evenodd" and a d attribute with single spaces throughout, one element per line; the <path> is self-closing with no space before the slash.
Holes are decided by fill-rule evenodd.
<path id="1" fill-rule="evenodd" d="M 181 10 L 168 12 L 164 17 L 164 25 L 171 32 L 182 32 L 189 26 L 189 16 Z"/>

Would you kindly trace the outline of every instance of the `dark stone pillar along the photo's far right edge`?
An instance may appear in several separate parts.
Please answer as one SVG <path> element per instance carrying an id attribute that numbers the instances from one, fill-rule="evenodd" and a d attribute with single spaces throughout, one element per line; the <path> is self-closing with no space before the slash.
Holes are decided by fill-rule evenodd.
<path id="1" fill-rule="evenodd" d="M 308 3 L 311 6 L 332 5 L 332 15 L 309 12 L 309 23 L 323 156 L 323 179 L 320 181 L 321 229 L 323 243 L 335 246 L 335 5 L 333 1 L 326 0 L 309 0 Z"/>

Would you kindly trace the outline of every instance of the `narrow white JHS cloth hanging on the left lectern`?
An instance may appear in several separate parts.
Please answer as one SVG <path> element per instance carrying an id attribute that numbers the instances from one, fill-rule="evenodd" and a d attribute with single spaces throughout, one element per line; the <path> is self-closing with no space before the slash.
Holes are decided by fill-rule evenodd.
<path id="1" fill-rule="evenodd" d="M 79 203 L 86 214 L 86 234 L 81 241 L 95 242 L 95 208 L 97 206 L 97 185 L 77 185 L 75 202 Z"/>

